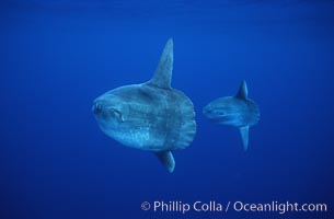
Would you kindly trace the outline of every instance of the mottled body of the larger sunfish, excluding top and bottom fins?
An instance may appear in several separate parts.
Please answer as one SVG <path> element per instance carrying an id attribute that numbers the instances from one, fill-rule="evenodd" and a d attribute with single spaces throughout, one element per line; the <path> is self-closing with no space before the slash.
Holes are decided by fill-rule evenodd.
<path id="1" fill-rule="evenodd" d="M 93 107 L 107 136 L 124 146 L 158 152 L 188 146 L 182 129 L 195 114 L 183 115 L 188 111 L 183 107 L 191 104 L 181 91 L 134 84 L 106 92 Z"/>

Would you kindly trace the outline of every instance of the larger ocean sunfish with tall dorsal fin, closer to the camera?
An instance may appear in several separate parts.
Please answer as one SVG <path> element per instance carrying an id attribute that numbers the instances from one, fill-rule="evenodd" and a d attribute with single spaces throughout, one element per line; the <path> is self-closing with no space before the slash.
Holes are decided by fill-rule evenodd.
<path id="1" fill-rule="evenodd" d="M 196 134 L 194 105 L 183 92 L 171 88 L 172 69 L 170 38 L 151 80 L 116 88 L 93 103 L 104 134 L 124 146 L 156 153 L 169 172 L 175 166 L 171 151 L 188 147 Z"/>

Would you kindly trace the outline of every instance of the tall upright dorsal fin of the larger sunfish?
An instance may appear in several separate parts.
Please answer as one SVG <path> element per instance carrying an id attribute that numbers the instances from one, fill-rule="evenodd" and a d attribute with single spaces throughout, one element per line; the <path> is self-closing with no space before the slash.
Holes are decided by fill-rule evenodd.
<path id="1" fill-rule="evenodd" d="M 149 85 L 161 89 L 171 89 L 173 70 L 173 39 L 170 38 L 161 54 L 160 61 L 153 74 L 153 78 L 147 82 Z"/>

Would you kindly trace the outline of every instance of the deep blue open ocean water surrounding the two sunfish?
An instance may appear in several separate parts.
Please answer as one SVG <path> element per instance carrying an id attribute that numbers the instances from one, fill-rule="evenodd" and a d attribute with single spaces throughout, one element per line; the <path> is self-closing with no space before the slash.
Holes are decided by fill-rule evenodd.
<path id="1" fill-rule="evenodd" d="M 333 1 L 5 0 L 0 3 L 0 218 L 334 218 Z M 168 173 L 105 136 L 92 101 L 149 80 L 174 39 L 172 85 L 197 135 Z M 242 80 L 239 131 L 201 115 Z M 161 212 L 142 201 L 326 204 L 327 212 Z"/>

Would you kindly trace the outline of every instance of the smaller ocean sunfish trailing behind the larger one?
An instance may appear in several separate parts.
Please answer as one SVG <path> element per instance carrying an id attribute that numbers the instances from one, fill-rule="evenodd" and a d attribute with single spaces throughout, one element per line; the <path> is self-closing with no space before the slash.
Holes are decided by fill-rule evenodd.
<path id="1" fill-rule="evenodd" d="M 239 128 L 245 151 L 249 147 L 249 129 L 260 120 L 258 106 L 247 97 L 247 93 L 246 82 L 242 81 L 237 95 L 217 99 L 203 110 L 208 119 Z"/>

